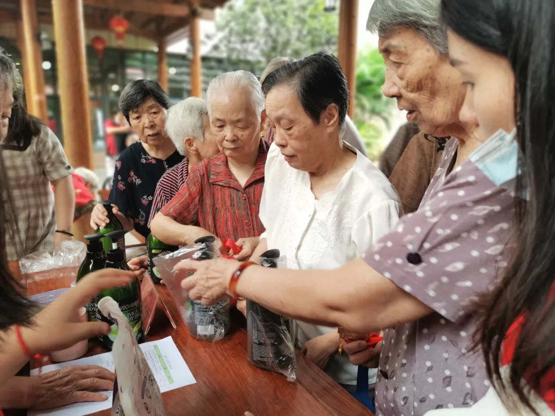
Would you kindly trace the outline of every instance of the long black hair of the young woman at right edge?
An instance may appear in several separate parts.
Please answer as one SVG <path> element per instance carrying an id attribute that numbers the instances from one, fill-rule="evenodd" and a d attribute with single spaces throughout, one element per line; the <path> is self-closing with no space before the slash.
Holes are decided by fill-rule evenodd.
<path id="1" fill-rule="evenodd" d="M 555 3 L 543 0 L 442 0 L 442 19 L 457 35 L 509 60 L 516 80 L 515 119 L 522 152 L 516 206 L 516 251 L 502 281 L 478 303 L 476 343 L 504 397 L 537 412 L 523 387 L 538 390 L 555 365 Z M 519 317 L 508 379 L 500 372 L 502 343 Z M 553 386 L 551 386 L 552 388 Z"/>

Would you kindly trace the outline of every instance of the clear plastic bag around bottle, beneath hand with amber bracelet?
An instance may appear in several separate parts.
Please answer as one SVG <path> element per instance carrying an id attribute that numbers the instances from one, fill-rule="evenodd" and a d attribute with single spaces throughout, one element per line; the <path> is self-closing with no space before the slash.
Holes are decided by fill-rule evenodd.
<path id="1" fill-rule="evenodd" d="M 229 318 L 229 298 L 213 306 L 204 306 L 199 301 L 192 301 L 181 288 L 181 281 L 190 274 L 174 271 L 175 265 L 181 261 L 208 260 L 218 255 L 215 244 L 195 244 L 181 247 L 173 253 L 164 252 L 154 258 L 160 278 L 173 298 L 175 305 L 189 333 L 200 341 L 220 341 L 231 326 Z"/>

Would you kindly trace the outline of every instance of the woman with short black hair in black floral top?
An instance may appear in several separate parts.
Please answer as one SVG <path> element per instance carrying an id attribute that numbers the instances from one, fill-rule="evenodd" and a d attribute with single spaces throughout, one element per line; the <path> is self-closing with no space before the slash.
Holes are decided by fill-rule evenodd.
<path id="1" fill-rule="evenodd" d="M 183 160 L 165 131 L 170 99 L 158 83 L 139 79 L 129 83 L 119 98 L 119 108 L 140 141 L 132 144 L 115 164 L 110 201 L 125 230 L 148 237 L 148 219 L 158 181 L 166 170 Z M 108 223 L 101 204 L 94 207 L 90 226 Z"/>

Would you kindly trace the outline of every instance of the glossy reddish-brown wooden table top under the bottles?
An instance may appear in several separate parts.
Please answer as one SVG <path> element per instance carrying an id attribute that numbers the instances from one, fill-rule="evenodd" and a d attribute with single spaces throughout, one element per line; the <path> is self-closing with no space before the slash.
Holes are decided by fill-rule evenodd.
<path id="1" fill-rule="evenodd" d="M 28 294 L 67 286 L 64 278 L 37 282 L 28 287 Z M 256 416 L 373 415 L 299 352 L 294 383 L 250 364 L 245 318 L 236 310 L 232 313 L 231 330 L 222 341 L 197 341 L 187 332 L 168 290 L 159 286 L 159 292 L 177 329 L 171 328 L 163 311 L 158 310 L 145 341 L 171 335 L 196 379 L 195 384 L 163 393 L 168 416 L 243 415 L 246 410 Z M 102 352 L 105 349 L 99 343 L 90 341 L 89 355 Z M 97 414 L 108 416 L 110 410 Z"/>

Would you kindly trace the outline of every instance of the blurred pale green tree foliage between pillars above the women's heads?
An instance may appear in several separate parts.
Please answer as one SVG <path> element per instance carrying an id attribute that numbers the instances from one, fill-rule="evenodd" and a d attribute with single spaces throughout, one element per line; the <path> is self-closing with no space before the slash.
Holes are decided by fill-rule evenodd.
<path id="1" fill-rule="evenodd" d="M 214 51 L 260 74 L 275 57 L 337 54 L 338 12 L 324 0 L 232 0 L 216 18 Z"/>

